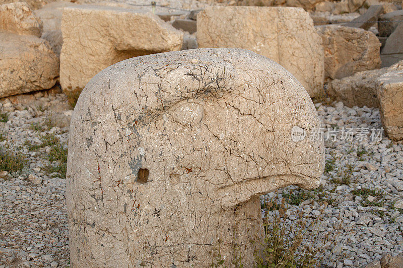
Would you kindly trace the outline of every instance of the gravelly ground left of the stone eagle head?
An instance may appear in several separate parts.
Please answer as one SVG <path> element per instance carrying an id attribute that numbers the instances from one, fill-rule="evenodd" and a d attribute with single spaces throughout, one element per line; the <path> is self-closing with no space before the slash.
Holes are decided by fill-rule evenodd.
<path id="1" fill-rule="evenodd" d="M 44 171 L 50 164 L 49 146 L 29 147 L 45 135 L 54 135 L 66 145 L 69 128 L 49 128 L 43 122 L 60 109 L 69 111 L 69 105 L 63 94 L 35 95 L 20 95 L 23 102 L 19 97 L 0 99 L 0 113 L 9 116 L 8 122 L 0 122 L 0 150 L 10 146 L 27 159 L 22 170 L 0 171 L 0 266 L 65 267 L 70 262 L 65 179 Z"/>

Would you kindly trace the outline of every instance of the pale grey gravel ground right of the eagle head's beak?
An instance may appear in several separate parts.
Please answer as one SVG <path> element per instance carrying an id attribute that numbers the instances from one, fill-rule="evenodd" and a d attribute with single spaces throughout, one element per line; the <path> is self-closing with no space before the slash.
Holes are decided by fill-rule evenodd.
<path id="1" fill-rule="evenodd" d="M 341 102 L 315 106 L 325 138 L 327 128 L 368 128 L 371 133 L 371 129 L 382 127 L 377 108 L 349 108 Z M 322 230 L 332 230 L 342 224 L 343 231 L 339 236 L 329 236 L 330 241 L 335 242 L 333 253 L 331 248 L 325 250 L 324 259 L 328 260 L 329 267 L 365 267 L 379 261 L 384 254 L 401 254 L 403 210 L 399 207 L 403 205 L 400 204 L 403 198 L 403 142 L 392 142 L 384 134 L 380 142 L 340 138 L 333 142 L 330 136 L 325 145 L 325 170 L 328 171 L 322 175 L 321 187 L 307 192 L 292 186 L 279 191 L 279 197 L 291 191 L 294 195 L 307 195 L 307 200 L 299 206 L 289 205 L 289 210 L 294 213 L 301 209 L 304 216 L 310 218 L 314 218 L 315 210 L 322 208 L 323 201 L 328 203 L 323 212 Z M 350 182 L 340 183 L 343 176 Z M 369 189 L 375 194 L 368 196 L 372 202 L 357 193 L 360 189 Z M 271 193 L 267 197 L 274 195 Z M 325 239 L 323 234 L 319 236 Z"/>

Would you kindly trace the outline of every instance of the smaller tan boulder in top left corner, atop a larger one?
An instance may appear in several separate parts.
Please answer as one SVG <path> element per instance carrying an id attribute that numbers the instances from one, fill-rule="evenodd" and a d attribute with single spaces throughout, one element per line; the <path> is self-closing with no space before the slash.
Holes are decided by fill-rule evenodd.
<path id="1" fill-rule="evenodd" d="M 25 2 L 0 5 L 0 31 L 40 37 L 42 21 Z"/>

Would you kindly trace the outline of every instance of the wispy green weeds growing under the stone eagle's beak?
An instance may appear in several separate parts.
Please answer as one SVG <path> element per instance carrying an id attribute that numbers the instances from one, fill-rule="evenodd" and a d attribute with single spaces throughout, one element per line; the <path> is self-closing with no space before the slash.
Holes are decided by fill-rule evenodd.
<path id="1" fill-rule="evenodd" d="M 291 195 L 288 196 L 290 198 Z M 328 237 L 330 233 L 336 234 L 334 230 L 329 230 L 324 235 L 325 239 L 317 241 L 324 206 L 316 219 L 308 222 L 308 217 L 299 211 L 291 225 L 287 225 L 289 202 L 283 198 L 279 205 L 277 195 L 270 202 L 265 202 L 263 253 L 255 251 L 255 267 L 318 267 L 323 260 L 324 249 L 332 245 Z"/>

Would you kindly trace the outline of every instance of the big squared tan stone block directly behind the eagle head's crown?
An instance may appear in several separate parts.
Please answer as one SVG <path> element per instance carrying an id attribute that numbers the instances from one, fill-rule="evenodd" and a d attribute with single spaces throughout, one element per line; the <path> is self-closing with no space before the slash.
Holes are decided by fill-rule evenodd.
<path id="1" fill-rule="evenodd" d="M 302 8 L 208 7 L 197 14 L 197 43 L 252 50 L 289 70 L 311 98 L 323 93 L 322 41 Z"/>

